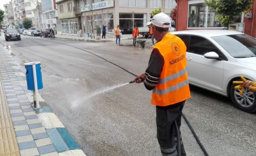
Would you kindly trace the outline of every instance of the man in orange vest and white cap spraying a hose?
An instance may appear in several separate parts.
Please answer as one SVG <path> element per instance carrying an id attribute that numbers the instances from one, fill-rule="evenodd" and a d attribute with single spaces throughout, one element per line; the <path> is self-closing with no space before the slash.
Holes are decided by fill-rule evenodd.
<path id="1" fill-rule="evenodd" d="M 151 104 L 156 105 L 157 139 L 162 155 L 177 155 L 177 134 L 180 134 L 181 155 L 185 156 L 179 128 L 183 106 L 190 98 L 186 45 L 179 37 L 168 32 L 170 17 L 165 13 L 156 14 L 150 24 L 157 42 L 148 68 L 135 80 L 141 83 L 144 78 L 146 89 L 153 90 Z"/>

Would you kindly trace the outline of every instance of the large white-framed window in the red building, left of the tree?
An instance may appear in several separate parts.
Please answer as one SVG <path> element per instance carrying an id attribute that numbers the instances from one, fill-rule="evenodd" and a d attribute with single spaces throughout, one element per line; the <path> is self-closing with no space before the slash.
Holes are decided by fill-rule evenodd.
<path id="1" fill-rule="evenodd" d="M 215 10 L 211 10 L 203 0 L 189 1 L 188 28 L 221 27 Z"/>

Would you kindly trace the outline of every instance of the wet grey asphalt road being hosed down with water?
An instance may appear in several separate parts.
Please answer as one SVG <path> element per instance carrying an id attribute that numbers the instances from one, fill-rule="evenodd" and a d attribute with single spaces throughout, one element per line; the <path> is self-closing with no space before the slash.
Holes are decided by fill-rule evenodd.
<path id="1" fill-rule="evenodd" d="M 149 45 L 143 49 L 132 47 L 132 40 L 116 46 L 27 36 L 6 42 L 3 36 L 0 42 L 21 68 L 41 62 L 44 88 L 39 93 L 88 156 L 161 155 L 151 92 L 143 84 L 127 84 L 135 77 L 131 73 L 145 71 Z M 208 154 L 255 155 L 256 113 L 236 109 L 227 97 L 190 89 L 183 113 Z M 187 155 L 203 156 L 184 120 L 181 131 Z"/>

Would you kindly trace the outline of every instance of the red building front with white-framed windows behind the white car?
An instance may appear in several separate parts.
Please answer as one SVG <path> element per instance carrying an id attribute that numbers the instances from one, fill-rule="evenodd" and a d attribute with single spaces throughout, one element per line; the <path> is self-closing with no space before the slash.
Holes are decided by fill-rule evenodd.
<path id="1" fill-rule="evenodd" d="M 256 1 L 249 13 L 242 13 L 234 19 L 236 31 L 256 37 Z M 248 16 L 249 15 L 249 16 Z M 177 0 L 176 31 L 193 29 L 228 29 L 215 17 L 215 10 L 211 10 L 204 0 Z"/>

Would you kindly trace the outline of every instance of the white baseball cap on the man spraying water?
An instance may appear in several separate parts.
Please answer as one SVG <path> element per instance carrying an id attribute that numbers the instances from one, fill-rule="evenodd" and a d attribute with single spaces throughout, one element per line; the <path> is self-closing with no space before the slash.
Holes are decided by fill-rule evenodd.
<path id="1" fill-rule="evenodd" d="M 153 16 L 151 22 L 148 22 L 147 25 L 148 24 L 153 24 L 160 28 L 169 28 L 170 17 L 167 14 L 160 12 L 160 13 L 156 14 L 155 16 Z"/>

